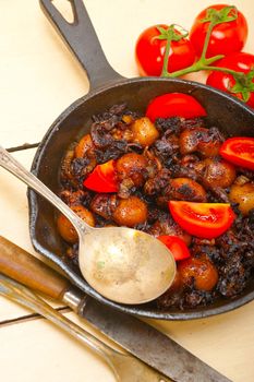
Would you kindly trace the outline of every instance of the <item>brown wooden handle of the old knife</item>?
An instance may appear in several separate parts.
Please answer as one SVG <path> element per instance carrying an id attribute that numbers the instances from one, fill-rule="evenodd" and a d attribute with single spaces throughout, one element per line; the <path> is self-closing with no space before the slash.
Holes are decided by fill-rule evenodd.
<path id="1" fill-rule="evenodd" d="M 31 253 L 0 236 L 0 272 L 53 298 L 61 299 L 70 282 Z"/>

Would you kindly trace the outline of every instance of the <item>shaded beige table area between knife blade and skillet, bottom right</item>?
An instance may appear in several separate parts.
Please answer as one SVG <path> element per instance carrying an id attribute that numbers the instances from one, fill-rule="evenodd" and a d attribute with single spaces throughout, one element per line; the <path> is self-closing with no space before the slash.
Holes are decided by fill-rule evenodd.
<path id="1" fill-rule="evenodd" d="M 254 380 L 254 301 L 232 312 L 155 326 L 233 382 Z"/>

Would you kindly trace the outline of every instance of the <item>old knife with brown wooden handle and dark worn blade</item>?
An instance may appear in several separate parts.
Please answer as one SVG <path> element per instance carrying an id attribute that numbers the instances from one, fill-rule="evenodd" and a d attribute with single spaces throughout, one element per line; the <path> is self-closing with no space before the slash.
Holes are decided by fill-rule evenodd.
<path id="1" fill-rule="evenodd" d="M 84 296 L 62 275 L 1 236 L 0 272 L 66 303 L 114 343 L 176 382 L 230 382 L 155 327 Z"/>

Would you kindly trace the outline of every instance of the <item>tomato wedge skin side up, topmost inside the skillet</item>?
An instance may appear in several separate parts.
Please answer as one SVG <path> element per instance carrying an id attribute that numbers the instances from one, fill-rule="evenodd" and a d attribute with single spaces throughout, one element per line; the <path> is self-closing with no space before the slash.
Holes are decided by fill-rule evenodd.
<path id="1" fill-rule="evenodd" d="M 184 93 L 167 93 L 158 96 L 149 103 L 146 109 L 146 117 L 152 122 L 157 118 L 202 116 L 206 116 L 204 107 L 194 97 Z"/>

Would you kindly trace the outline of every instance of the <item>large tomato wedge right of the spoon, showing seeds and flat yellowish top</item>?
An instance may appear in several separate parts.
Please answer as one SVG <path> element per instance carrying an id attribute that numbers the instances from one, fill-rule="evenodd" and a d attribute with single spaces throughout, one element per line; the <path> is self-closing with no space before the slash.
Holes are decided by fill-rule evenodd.
<path id="1" fill-rule="evenodd" d="M 169 202 L 173 219 L 189 234 L 213 239 L 226 232 L 234 220 L 228 203 Z"/>

